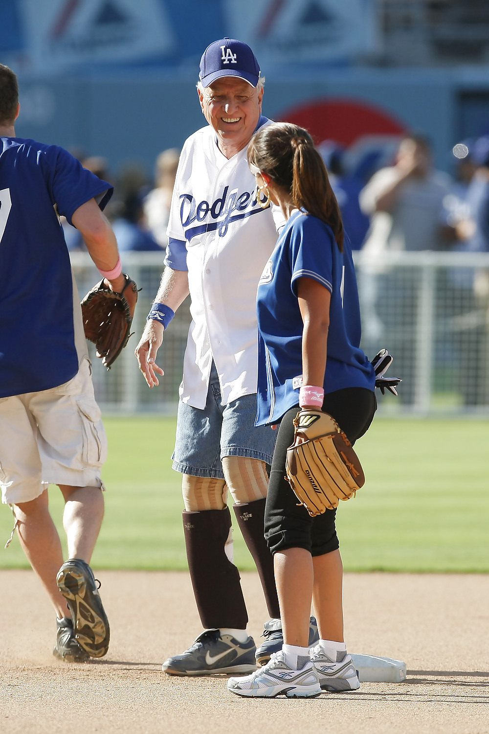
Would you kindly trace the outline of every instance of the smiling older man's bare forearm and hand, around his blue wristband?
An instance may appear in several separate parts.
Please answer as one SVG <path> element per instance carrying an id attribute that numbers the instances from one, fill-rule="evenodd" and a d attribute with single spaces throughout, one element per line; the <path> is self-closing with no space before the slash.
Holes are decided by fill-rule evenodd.
<path id="1" fill-rule="evenodd" d="M 172 270 L 166 267 L 161 276 L 160 287 L 155 302 L 169 306 L 176 311 L 188 296 L 188 273 L 186 270 Z M 159 321 L 150 319 L 146 322 L 144 331 L 134 354 L 138 360 L 139 369 L 144 375 L 149 388 L 158 385 L 156 373 L 163 376 L 164 372 L 156 364 L 156 355 L 163 342 L 164 327 Z"/>

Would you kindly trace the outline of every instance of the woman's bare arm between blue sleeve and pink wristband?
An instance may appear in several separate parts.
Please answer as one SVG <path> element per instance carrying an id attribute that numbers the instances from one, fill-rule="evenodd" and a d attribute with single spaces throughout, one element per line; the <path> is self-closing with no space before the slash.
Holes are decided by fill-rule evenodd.
<path id="1" fill-rule="evenodd" d="M 302 384 L 321 387 L 326 370 L 331 293 L 328 288 L 309 277 L 300 278 L 297 291 L 299 309 L 304 321 Z"/>

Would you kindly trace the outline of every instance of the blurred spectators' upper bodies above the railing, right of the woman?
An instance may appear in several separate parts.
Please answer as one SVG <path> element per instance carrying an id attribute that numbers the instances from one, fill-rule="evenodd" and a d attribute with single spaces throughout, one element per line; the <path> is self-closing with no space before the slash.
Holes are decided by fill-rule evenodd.
<path id="1" fill-rule="evenodd" d="M 381 150 L 353 166 L 334 141 L 320 151 L 353 250 L 489 250 L 489 136 L 455 146 L 452 176 L 435 170 L 421 134 L 400 140 L 381 167 Z"/>

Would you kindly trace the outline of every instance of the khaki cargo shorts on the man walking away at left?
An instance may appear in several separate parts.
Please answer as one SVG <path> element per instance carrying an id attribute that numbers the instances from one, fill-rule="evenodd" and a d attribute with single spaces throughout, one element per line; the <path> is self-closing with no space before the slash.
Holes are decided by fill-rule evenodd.
<path id="1" fill-rule="evenodd" d="M 4 504 L 30 502 L 48 484 L 102 487 L 107 440 L 91 366 L 51 390 L 0 398 L 0 488 Z"/>

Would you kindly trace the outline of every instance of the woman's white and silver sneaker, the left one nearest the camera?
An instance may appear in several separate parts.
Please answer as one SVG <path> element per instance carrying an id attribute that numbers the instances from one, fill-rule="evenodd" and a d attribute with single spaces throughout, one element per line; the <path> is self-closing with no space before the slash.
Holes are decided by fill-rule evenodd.
<path id="1" fill-rule="evenodd" d="M 317 672 L 311 661 L 307 660 L 300 670 L 290 668 L 285 662 L 282 650 L 273 653 L 270 662 L 242 678 L 229 678 L 227 688 L 238 696 L 251 698 L 314 698 L 320 695 L 321 688 Z"/>

